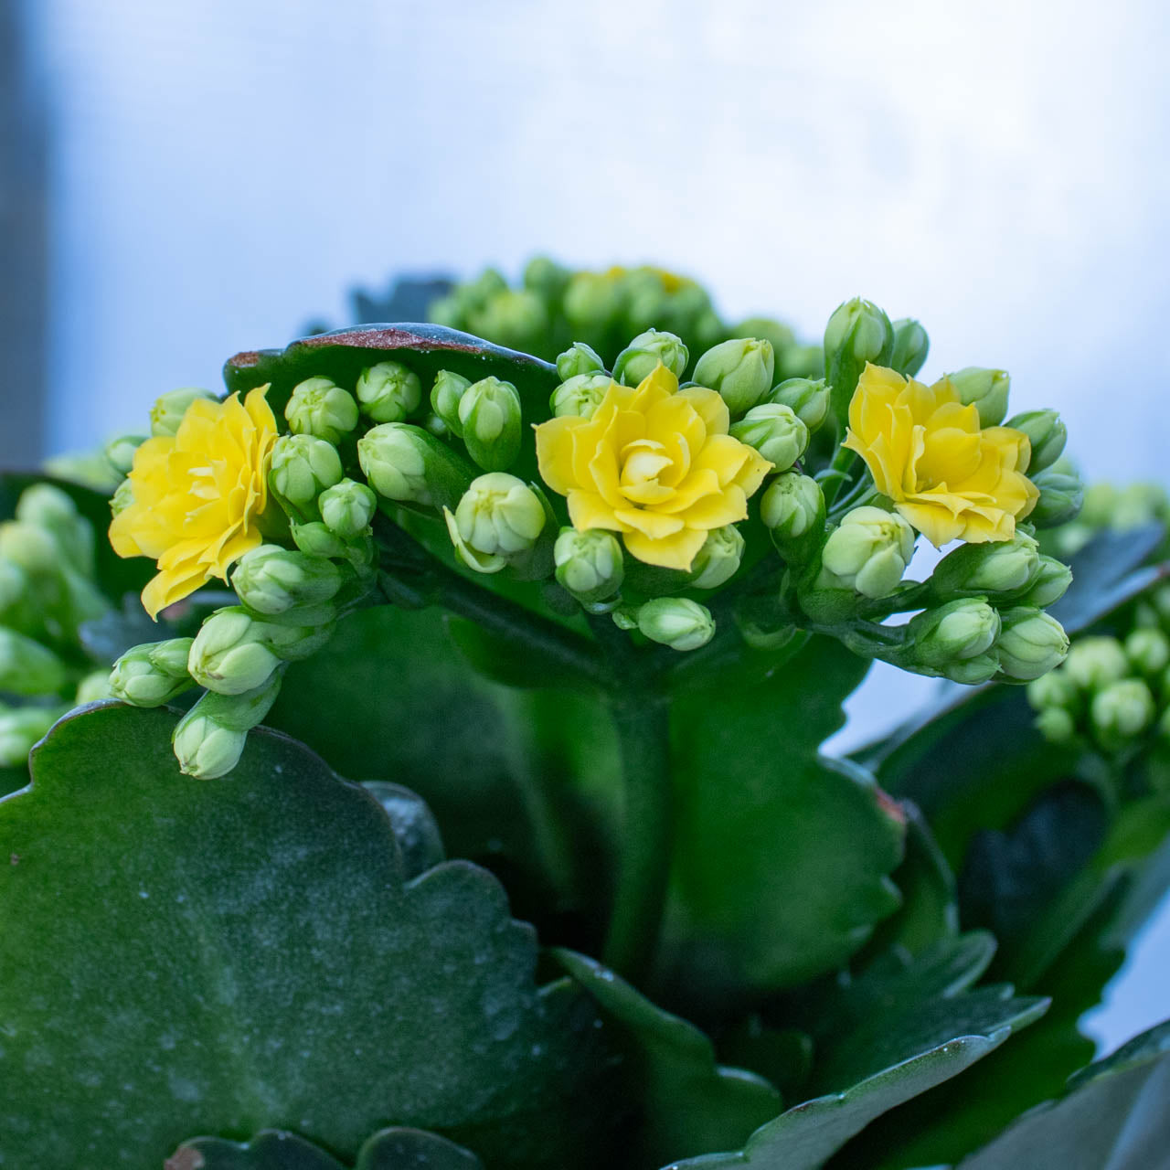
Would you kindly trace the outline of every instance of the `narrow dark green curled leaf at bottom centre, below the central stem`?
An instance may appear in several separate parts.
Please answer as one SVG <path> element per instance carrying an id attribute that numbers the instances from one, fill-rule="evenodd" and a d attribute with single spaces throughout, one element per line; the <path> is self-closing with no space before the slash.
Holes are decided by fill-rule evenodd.
<path id="1" fill-rule="evenodd" d="M 780 1112 L 776 1088 L 755 1073 L 717 1065 L 711 1041 L 693 1024 L 594 959 L 567 950 L 555 955 L 625 1037 L 635 1102 L 631 1165 L 727 1149 Z"/>

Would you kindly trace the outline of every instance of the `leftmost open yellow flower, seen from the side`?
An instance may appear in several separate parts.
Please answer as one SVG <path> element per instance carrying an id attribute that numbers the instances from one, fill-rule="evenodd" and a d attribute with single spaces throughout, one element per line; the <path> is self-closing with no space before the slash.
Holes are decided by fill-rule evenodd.
<path id="1" fill-rule="evenodd" d="M 152 557 L 158 576 L 143 590 L 150 615 L 193 593 L 263 543 L 257 519 L 268 503 L 276 419 L 267 386 L 243 404 L 197 399 L 174 435 L 135 453 L 132 500 L 110 525 L 119 557 Z"/>

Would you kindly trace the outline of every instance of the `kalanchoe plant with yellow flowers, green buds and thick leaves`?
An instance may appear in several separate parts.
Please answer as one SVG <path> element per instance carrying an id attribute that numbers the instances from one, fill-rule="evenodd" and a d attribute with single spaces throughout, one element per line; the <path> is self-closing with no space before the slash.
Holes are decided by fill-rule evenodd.
<path id="1" fill-rule="evenodd" d="M 0 804 L 0 1154 L 1097 1170 L 1170 1060 L 1065 1088 L 1164 886 L 1159 530 L 1071 573 L 1057 415 L 916 380 L 869 302 L 821 379 L 658 270 L 524 283 L 436 309 L 491 340 L 343 330 L 164 395 L 113 452 L 121 566 L 26 484 L 4 689 L 99 697 L 80 641 L 118 702 Z M 140 557 L 153 640 L 102 599 Z M 954 693 L 831 759 L 875 659 Z"/>

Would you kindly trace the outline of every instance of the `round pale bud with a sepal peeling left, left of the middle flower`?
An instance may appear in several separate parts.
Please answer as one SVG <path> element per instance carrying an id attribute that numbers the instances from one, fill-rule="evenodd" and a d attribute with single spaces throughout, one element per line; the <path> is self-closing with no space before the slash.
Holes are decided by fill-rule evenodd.
<path id="1" fill-rule="evenodd" d="M 489 472 L 472 481 L 454 514 L 443 509 L 452 543 L 476 572 L 498 572 L 528 552 L 544 529 L 544 504 L 523 480 Z"/>

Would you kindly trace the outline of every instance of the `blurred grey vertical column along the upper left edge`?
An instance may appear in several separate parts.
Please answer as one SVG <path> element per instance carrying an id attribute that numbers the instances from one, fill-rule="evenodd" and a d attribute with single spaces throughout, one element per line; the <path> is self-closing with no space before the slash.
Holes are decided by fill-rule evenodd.
<path id="1" fill-rule="evenodd" d="M 44 433 L 46 117 L 25 0 L 0 0 L 0 467 Z"/>

